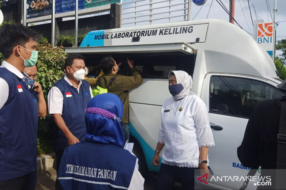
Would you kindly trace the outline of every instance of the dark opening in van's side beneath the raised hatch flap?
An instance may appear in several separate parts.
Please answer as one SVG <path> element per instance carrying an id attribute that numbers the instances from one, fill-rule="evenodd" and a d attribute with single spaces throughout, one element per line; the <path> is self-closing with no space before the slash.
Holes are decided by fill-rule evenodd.
<path id="1" fill-rule="evenodd" d="M 193 75 L 195 55 L 174 55 L 172 52 L 149 54 L 116 54 L 113 58 L 117 63 L 122 62 L 118 74 L 131 76 L 131 70 L 127 64 L 126 57 L 134 59 L 135 67 L 140 71 L 142 78 L 148 79 L 168 79 L 169 72 L 174 70 L 186 71 Z M 93 66 L 89 76 L 97 77 L 100 73 L 100 60 L 106 55 L 88 55 L 85 57 L 86 66 Z"/>

